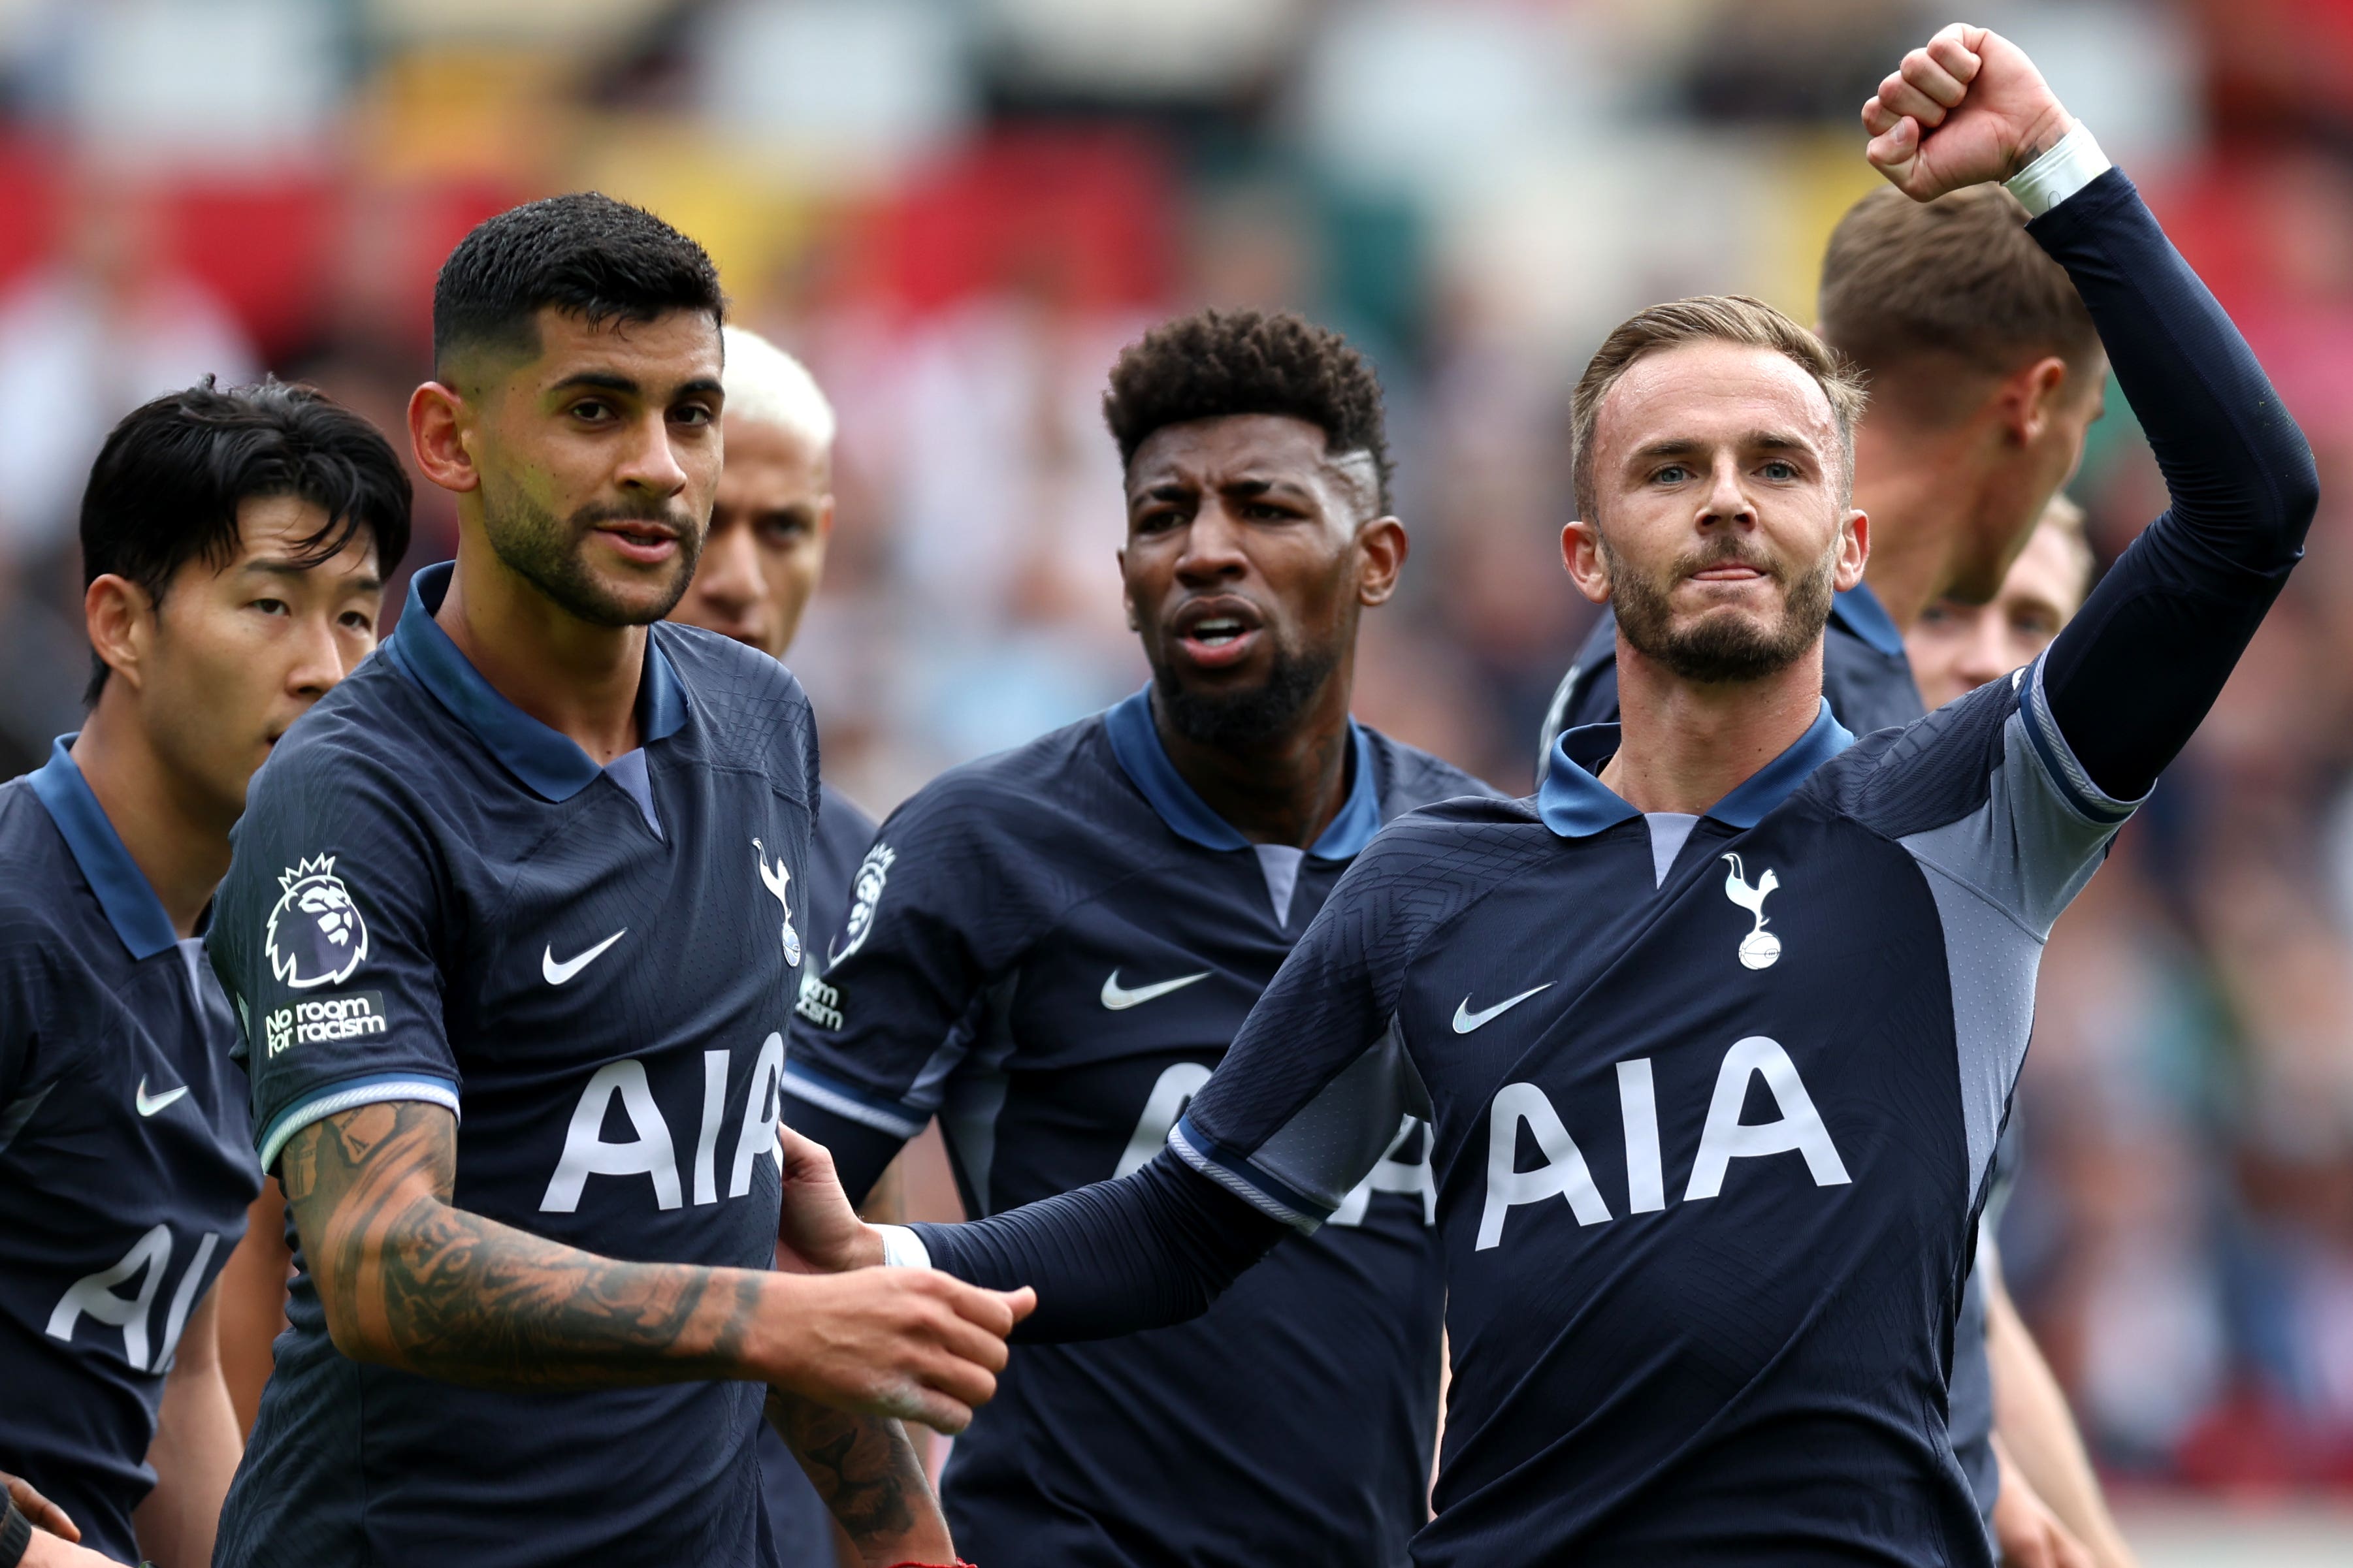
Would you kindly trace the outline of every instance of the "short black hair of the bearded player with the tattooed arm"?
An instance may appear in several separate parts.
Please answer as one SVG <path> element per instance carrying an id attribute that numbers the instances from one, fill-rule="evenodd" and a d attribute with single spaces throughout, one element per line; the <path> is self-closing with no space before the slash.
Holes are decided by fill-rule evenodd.
<path id="1" fill-rule="evenodd" d="M 459 240 L 433 282 L 433 371 L 459 348 L 539 350 L 548 306 L 602 324 L 673 310 L 727 317 L 704 247 L 654 214 L 595 190 L 508 207 Z"/>

